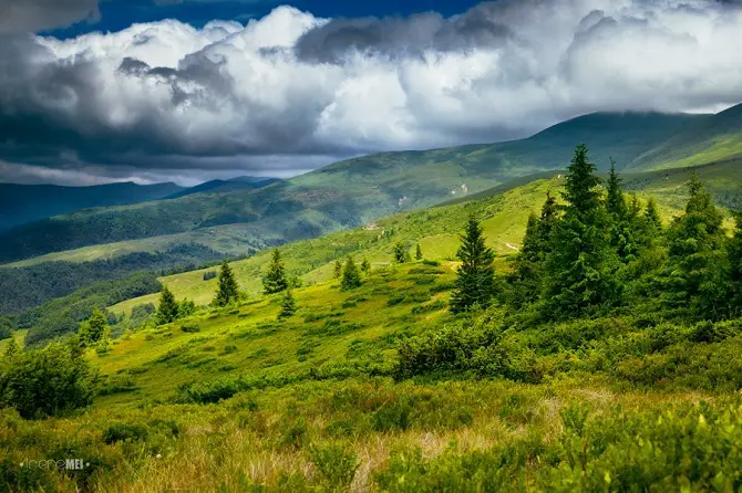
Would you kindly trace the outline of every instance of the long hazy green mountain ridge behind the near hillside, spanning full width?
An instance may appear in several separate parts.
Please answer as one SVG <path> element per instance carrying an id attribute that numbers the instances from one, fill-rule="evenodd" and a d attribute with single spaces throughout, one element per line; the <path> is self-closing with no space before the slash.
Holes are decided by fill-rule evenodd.
<path id="1" fill-rule="evenodd" d="M 0 262 L 206 229 L 214 237 L 227 224 L 254 246 L 317 237 L 564 169 L 581 143 L 601 170 L 611 157 L 631 172 L 731 159 L 742 155 L 742 106 L 718 115 L 597 113 L 522 140 L 381 153 L 286 181 L 259 181 L 260 188 L 215 180 L 175 191 L 168 200 L 83 210 L 6 231 Z M 234 228 L 229 234 L 237 234 Z M 218 250 L 218 239 L 209 242 Z"/>

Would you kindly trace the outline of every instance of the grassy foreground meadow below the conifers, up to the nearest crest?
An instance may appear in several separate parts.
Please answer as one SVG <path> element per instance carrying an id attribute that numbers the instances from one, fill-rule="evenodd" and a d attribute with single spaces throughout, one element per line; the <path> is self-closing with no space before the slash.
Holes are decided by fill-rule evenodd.
<path id="1" fill-rule="evenodd" d="M 126 334 L 92 409 L 0 412 L 9 491 L 738 491 L 742 323 L 713 342 L 631 317 L 509 332 L 521 381 L 394 379 L 453 323 L 452 262 L 378 268 Z M 495 313 L 494 316 L 497 316 Z M 730 328 L 731 327 L 731 328 Z M 664 327 L 667 329 L 667 327 Z M 684 334 L 684 335 L 683 335 Z M 525 349 L 524 349 L 525 348 Z M 79 458 L 82 470 L 29 469 Z M 22 466 L 20 464 L 27 464 Z"/>

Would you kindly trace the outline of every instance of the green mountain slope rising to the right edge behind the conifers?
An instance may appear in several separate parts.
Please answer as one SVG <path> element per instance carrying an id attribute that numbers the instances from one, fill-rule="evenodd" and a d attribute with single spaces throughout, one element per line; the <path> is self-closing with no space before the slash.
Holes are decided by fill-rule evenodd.
<path id="1" fill-rule="evenodd" d="M 698 118 L 692 126 L 658 144 L 631 169 L 698 166 L 742 157 L 742 105 Z"/>

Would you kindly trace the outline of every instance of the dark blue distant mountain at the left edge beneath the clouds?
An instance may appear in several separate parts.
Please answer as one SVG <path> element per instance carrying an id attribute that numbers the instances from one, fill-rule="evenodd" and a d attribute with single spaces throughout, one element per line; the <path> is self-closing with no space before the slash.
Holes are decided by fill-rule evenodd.
<path id="1" fill-rule="evenodd" d="M 181 190 L 183 188 L 175 183 L 125 182 L 91 187 L 0 183 L 0 231 L 79 209 L 157 200 Z"/>

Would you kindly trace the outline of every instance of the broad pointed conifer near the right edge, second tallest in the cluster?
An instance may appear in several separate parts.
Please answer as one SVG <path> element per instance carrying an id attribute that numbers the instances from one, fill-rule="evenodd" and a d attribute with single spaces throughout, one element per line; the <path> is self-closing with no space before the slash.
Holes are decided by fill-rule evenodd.
<path id="1" fill-rule="evenodd" d="M 690 307 L 705 318 L 718 318 L 726 310 L 726 293 L 720 273 L 728 269 L 723 217 L 693 171 L 688 183 L 686 213 L 667 231 L 668 265 L 663 272 L 666 303 Z"/>

